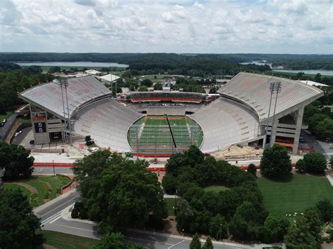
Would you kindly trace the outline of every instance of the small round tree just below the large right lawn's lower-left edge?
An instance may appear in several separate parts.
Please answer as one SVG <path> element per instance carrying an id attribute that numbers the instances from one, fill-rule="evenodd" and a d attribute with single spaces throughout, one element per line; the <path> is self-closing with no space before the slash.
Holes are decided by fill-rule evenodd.
<path id="1" fill-rule="evenodd" d="M 282 241 L 287 234 L 289 221 L 285 217 L 270 214 L 263 223 L 263 242 L 273 243 Z"/>

